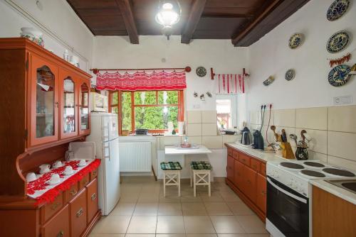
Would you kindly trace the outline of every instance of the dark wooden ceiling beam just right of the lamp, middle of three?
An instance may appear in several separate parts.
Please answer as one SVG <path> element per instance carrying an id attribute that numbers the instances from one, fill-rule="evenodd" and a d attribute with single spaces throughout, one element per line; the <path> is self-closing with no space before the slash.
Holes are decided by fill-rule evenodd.
<path id="1" fill-rule="evenodd" d="M 201 14 L 204 11 L 206 0 L 195 0 L 192 4 L 192 10 L 187 18 L 187 23 L 182 32 L 181 43 L 190 43 L 193 33 L 198 26 Z"/>

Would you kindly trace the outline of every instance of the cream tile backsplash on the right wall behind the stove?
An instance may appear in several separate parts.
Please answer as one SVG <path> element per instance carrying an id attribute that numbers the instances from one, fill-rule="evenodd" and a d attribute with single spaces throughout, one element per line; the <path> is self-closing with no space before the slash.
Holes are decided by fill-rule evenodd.
<path id="1" fill-rule="evenodd" d="M 250 127 L 259 128 L 260 111 L 250 111 Z M 268 116 L 266 116 L 268 119 Z M 280 109 L 273 111 L 273 122 L 268 128 L 268 141 L 274 141 L 271 125 L 281 133 L 285 128 L 288 141 L 295 152 L 295 143 L 289 138 L 295 133 L 300 140 L 300 131 L 310 135 L 310 159 L 323 160 L 333 165 L 356 170 L 356 106 L 333 106 L 307 109 Z M 266 119 L 262 136 L 266 143 Z"/>

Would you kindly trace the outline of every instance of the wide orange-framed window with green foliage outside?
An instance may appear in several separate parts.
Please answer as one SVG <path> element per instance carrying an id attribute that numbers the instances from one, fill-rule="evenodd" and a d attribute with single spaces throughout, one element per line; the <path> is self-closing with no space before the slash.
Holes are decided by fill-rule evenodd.
<path id="1" fill-rule="evenodd" d="M 167 130 L 168 121 L 174 128 L 184 120 L 183 91 L 110 92 L 110 111 L 118 114 L 120 134 L 146 128 L 150 132 Z"/>

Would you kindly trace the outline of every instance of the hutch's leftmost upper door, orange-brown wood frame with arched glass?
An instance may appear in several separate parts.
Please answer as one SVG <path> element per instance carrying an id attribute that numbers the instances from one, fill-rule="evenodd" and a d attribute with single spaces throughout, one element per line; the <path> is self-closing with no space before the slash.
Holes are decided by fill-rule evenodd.
<path id="1" fill-rule="evenodd" d="M 30 54 L 28 67 L 28 147 L 58 140 L 57 65 Z"/>

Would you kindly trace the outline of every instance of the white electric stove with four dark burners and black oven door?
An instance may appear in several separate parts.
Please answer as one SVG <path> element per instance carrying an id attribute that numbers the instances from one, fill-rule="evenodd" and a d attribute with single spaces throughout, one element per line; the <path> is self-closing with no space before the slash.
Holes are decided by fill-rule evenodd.
<path id="1" fill-rule="evenodd" d="M 320 160 L 267 162 L 266 228 L 273 237 L 312 236 L 310 180 L 356 177 Z"/>

